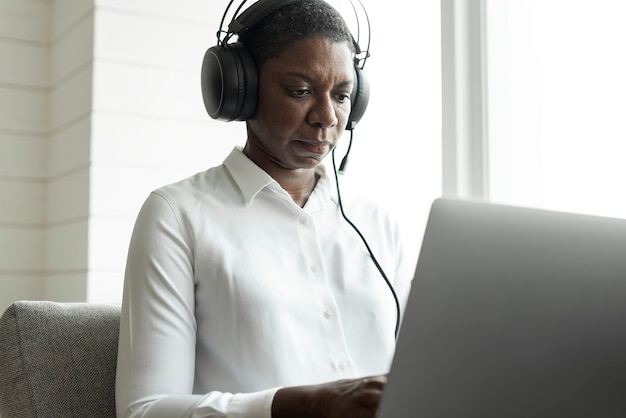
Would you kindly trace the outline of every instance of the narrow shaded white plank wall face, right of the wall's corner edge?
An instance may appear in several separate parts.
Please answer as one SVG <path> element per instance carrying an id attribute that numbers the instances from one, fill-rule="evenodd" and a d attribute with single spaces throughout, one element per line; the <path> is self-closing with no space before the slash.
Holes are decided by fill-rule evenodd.
<path id="1" fill-rule="evenodd" d="M 81 301 L 89 269 L 94 6 L 50 4 L 42 297 Z"/>

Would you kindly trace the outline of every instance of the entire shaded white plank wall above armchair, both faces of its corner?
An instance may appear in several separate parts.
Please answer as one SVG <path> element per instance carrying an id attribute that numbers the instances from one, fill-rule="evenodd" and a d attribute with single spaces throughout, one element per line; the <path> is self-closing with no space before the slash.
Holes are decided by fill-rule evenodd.
<path id="1" fill-rule="evenodd" d="M 0 303 L 84 300 L 93 3 L 5 0 L 0 19 Z"/>

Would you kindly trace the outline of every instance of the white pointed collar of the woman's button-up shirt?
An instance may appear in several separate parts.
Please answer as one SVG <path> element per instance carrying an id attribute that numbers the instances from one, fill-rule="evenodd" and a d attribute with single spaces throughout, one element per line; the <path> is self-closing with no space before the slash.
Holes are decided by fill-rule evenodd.
<path id="1" fill-rule="evenodd" d="M 249 205 L 259 192 L 266 187 L 273 186 L 282 190 L 278 182 L 249 159 L 240 147 L 233 148 L 224 160 L 224 166 L 241 190 L 246 205 Z M 320 179 L 315 185 L 313 194 L 316 194 L 323 200 L 331 197 L 332 185 L 326 168 L 320 164 L 315 171 L 320 175 Z"/>

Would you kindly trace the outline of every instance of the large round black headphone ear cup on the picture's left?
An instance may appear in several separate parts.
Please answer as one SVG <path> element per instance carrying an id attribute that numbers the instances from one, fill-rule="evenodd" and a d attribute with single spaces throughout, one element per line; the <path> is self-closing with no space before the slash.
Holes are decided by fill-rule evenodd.
<path id="1" fill-rule="evenodd" d="M 213 119 L 248 120 L 256 111 L 258 74 L 241 42 L 214 46 L 204 54 L 201 71 L 204 107 Z"/>

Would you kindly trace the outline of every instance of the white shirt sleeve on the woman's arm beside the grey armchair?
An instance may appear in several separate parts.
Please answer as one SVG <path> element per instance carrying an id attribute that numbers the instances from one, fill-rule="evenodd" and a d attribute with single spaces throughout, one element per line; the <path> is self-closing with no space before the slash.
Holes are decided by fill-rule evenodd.
<path id="1" fill-rule="evenodd" d="M 152 194 L 131 239 L 118 354 L 119 417 L 269 417 L 275 390 L 192 394 L 193 251 L 168 203 Z"/>

